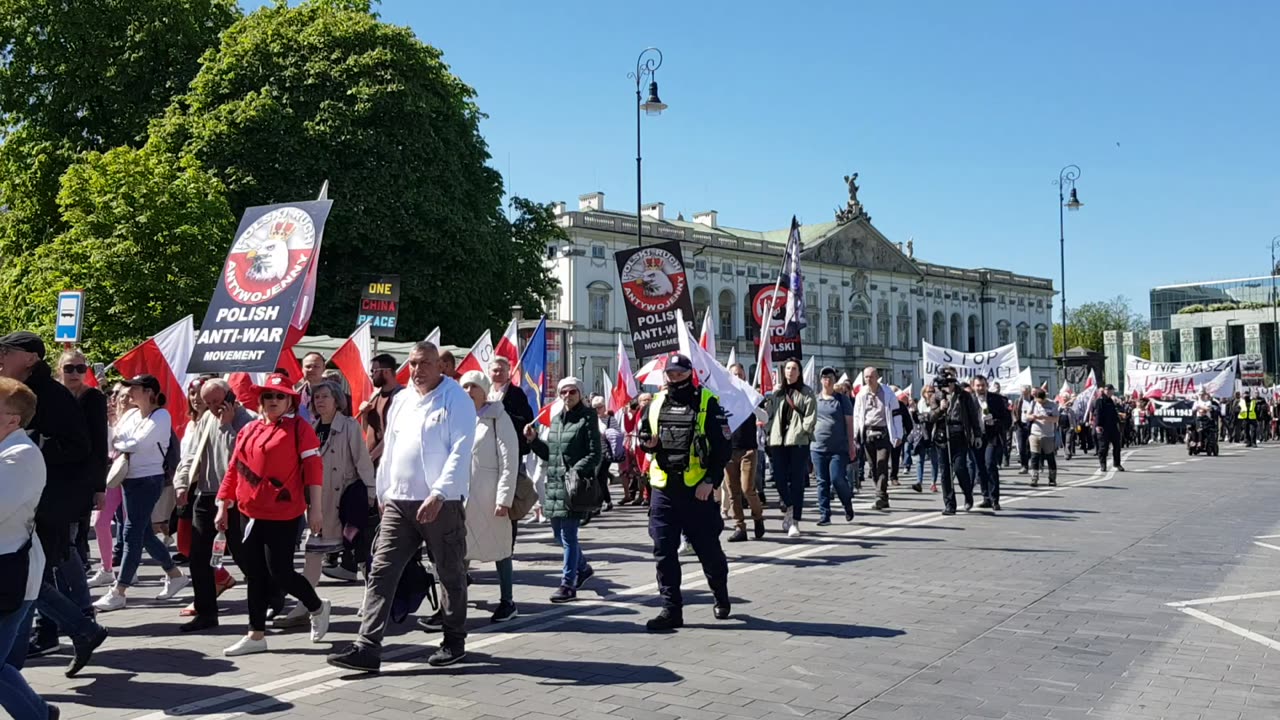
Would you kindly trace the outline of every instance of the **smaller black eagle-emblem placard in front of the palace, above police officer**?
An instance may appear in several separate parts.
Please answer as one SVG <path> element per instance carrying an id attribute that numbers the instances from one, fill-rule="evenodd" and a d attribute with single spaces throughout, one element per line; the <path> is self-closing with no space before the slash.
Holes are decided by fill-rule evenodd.
<path id="1" fill-rule="evenodd" d="M 684 313 L 689 331 L 694 331 L 694 300 L 680 242 L 620 250 L 613 259 L 618 264 L 618 284 L 636 357 L 644 360 L 680 350 L 676 310 Z"/>

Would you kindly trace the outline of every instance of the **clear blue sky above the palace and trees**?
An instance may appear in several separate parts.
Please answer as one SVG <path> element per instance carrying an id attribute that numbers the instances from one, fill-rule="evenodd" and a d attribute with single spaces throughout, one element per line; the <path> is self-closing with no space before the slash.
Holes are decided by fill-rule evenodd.
<path id="1" fill-rule="evenodd" d="M 635 204 L 645 46 L 671 109 L 645 118 L 645 202 L 767 229 L 832 219 L 859 172 L 893 241 L 929 261 L 1059 275 L 1070 305 L 1265 274 L 1280 233 L 1280 4 L 444 3 L 383 19 L 444 51 L 489 115 L 509 190 Z"/>

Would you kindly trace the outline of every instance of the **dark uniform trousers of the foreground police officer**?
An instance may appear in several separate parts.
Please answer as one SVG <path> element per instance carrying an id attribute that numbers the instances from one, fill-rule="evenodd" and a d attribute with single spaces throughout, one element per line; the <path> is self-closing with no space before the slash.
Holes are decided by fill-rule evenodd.
<path id="1" fill-rule="evenodd" d="M 728 603 L 728 559 L 719 543 L 723 529 L 724 518 L 721 516 L 714 496 L 698 500 L 694 488 L 685 487 L 680 473 L 667 477 L 666 488 L 653 488 L 649 498 L 649 537 L 653 538 L 653 559 L 658 564 L 658 594 L 668 612 L 680 616 L 685 606 L 680 594 L 681 534 L 689 538 L 689 544 L 698 553 L 716 602 Z"/>

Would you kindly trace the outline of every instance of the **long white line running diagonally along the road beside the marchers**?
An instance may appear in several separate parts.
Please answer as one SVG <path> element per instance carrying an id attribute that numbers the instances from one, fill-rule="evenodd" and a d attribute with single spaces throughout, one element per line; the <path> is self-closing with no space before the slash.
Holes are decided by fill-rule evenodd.
<path id="1" fill-rule="evenodd" d="M 1129 456 L 1132 456 L 1135 451 L 1137 450 L 1128 451 L 1124 455 L 1124 460 L 1128 460 Z M 1082 480 L 1075 480 L 1075 482 L 1070 482 L 1070 483 L 1062 483 L 1061 486 L 1050 487 L 1047 489 L 1041 489 L 1041 491 L 1016 492 L 1016 493 L 1012 493 L 1007 500 L 1001 498 L 1001 505 L 1009 505 L 1009 503 L 1014 503 L 1014 502 L 1020 502 L 1023 500 L 1030 500 L 1030 498 L 1036 498 L 1036 497 L 1041 497 L 1041 496 L 1046 496 L 1046 495 L 1052 495 L 1052 493 L 1055 493 L 1055 492 L 1057 492 L 1060 489 L 1069 488 L 1069 487 L 1083 487 L 1083 486 L 1089 486 L 1089 484 L 1094 484 L 1094 483 L 1101 483 L 1101 482 L 1105 482 L 1105 480 L 1110 480 L 1112 477 L 1115 477 L 1116 470 L 1112 468 L 1106 474 L 1101 474 L 1101 477 L 1100 477 L 1100 474 L 1101 474 L 1101 470 L 1094 470 L 1092 474 L 1087 475 Z M 972 514 L 972 515 L 980 516 L 980 514 Z M 959 518 L 959 516 L 960 515 L 956 515 L 956 518 Z M 998 516 L 998 514 L 997 514 L 997 516 Z M 887 534 L 893 534 L 893 533 L 899 533 L 899 532 L 910 529 L 911 527 L 915 527 L 915 525 L 927 525 L 927 524 L 931 524 L 931 523 L 937 523 L 937 521 L 947 519 L 947 518 L 952 518 L 952 516 L 950 516 L 950 515 L 942 515 L 942 514 L 937 512 L 936 510 L 923 510 L 923 511 L 919 511 L 919 512 L 913 512 L 910 516 L 902 518 L 901 520 L 891 521 L 890 524 L 893 525 L 891 528 L 864 527 L 864 528 L 856 528 L 856 529 L 841 533 L 841 534 L 838 534 L 836 537 L 859 537 L 859 536 L 879 537 L 879 536 L 887 536 Z M 753 556 L 753 559 L 786 559 L 786 560 L 796 559 L 796 560 L 799 560 L 799 559 L 803 559 L 803 557 L 808 557 L 810 555 L 817 555 L 819 552 L 826 552 L 826 551 L 831 551 L 831 550 L 838 550 L 840 547 L 841 547 L 840 544 L 835 544 L 835 543 L 817 544 L 817 546 L 783 544 L 783 546 L 781 546 L 781 547 L 778 547 L 778 548 L 776 548 L 776 550 L 773 550 L 771 552 L 767 552 L 764 555 Z M 728 566 L 728 569 L 730 569 L 730 577 L 742 575 L 742 574 L 746 574 L 746 573 L 754 573 L 756 570 L 762 570 L 762 569 L 768 568 L 771 565 L 772 565 L 771 562 L 742 562 L 742 561 L 731 562 L 730 566 Z M 698 578 L 698 579 L 690 579 L 690 580 L 682 583 L 682 587 L 685 587 L 685 588 L 692 588 L 692 587 L 701 587 L 701 585 L 705 585 L 705 584 L 707 584 L 707 579 L 705 578 Z M 547 612 L 540 612 L 538 615 L 531 615 L 531 616 L 529 616 L 530 619 L 543 618 L 543 620 L 539 621 L 539 623 L 534 623 L 534 624 L 529 625 L 527 629 L 525 629 L 524 632 L 499 632 L 499 630 L 488 630 L 488 632 L 479 630 L 479 632 L 472 632 L 472 633 L 468 633 L 472 637 L 474 635 L 485 635 L 485 637 L 481 637 L 480 639 L 476 639 L 476 641 L 468 641 L 467 642 L 467 650 L 468 651 L 474 651 L 474 650 L 480 650 L 480 648 L 484 648 L 484 647 L 494 646 L 494 644 L 498 644 L 498 643 L 513 641 L 513 639 L 525 637 L 529 633 L 534 633 L 534 632 L 538 632 L 538 630 L 541 630 L 541 629 L 545 629 L 545 628 L 550 628 L 550 626 L 556 626 L 556 625 L 563 624 L 563 623 L 566 623 L 568 620 L 572 620 L 575 618 L 582 618 L 582 616 L 590 616 L 590 615 L 599 615 L 599 614 L 602 614 L 602 612 L 604 612 L 607 610 L 611 610 L 611 609 L 616 607 L 617 606 L 616 601 L 620 597 L 630 597 L 630 596 L 636 596 L 636 594 L 652 594 L 652 593 L 657 592 L 657 589 L 658 589 L 658 583 L 654 582 L 654 583 L 649 583 L 649 584 L 635 587 L 635 588 L 621 589 L 621 591 L 611 594 L 608 598 L 584 600 L 584 601 L 579 601 L 579 602 L 573 603 L 572 606 L 566 606 L 563 610 L 559 610 L 559 611 L 552 610 L 552 611 L 547 611 Z M 584 607 L 584 606 L 588 607 L 589 610 L 586 610 L 584 612 L 579 612 L 577 615 L 572 615 L 572 611 L 575 609 Z M 522 620 L 524 619 L 515 620 L 513 623 L 509 623 L 506 626 L 511 628 L 511 629 L 520 628 L 520 626 L 522 626 Z M 435 644 L 435 642 L 433 641 L 431 643 L 402 646 L 402 647 L 397 647 L 396 650 L 384 652 L 383 657 L 388 659 L 388 660 L 394 660 L 397 657 L 406 657 L 406 656 L 411 656 L 411 655 L 417 655 L 417 653 L 421 653 L 426 647 L 430 647 L 430 646 L 434 646 L 434 644 Z M 421 662 L 393 662 L 390 665 L 384 665 L 383 666 L 383 671 L 390 673 L 390 671 L 398 671 L 398 670 L 421 669 L 421 666 L 422 666 Z M 291 700 L 297 700 L 297 698 L 301 698 L 301 697 L 307 697 L 307 696 L 317 694 L 317 693 L 321 693 L 321 692 L 328 692 L 329 689 L 338 688 L 338 687 L 342 687 L 342 685 L 346 685 L 346 684 L 349 684 L 349 683 L 356 683 L 356 682 L 366 680 L 366 679 L 370 678 L 369 675 L 356 675 L 351 680 L 346 680 L 343 678 L 338 678 L 338 675 L 343 675 L 343 674 L 348 674 L 349 675 L 349 674 L 352 674 L 352 671 L 351 670 L 344 670 L 344 669 L 340 669 L 340 667 L 325 666 L 325 667 L 321 667 L 321 669 L 317 669 L 317 670 L 312 670 L 310 673 L 303 673 L 302 675 L 296 675 L 296 676 L 291 676 L 291 678 L 273 680 L 270 683 L 264 683 L 261 685 L 255 685 L 255 687 L 251 687 L 251 688 L 233 691 L 233 692 L 225 693 L 223 696 L 209 697 L 209 698 L 205 698 L 205 700 L 201 700 L 201 701 L 191 702 L 191 703 L 187 703 L 187 705 L 180 705 L 178 707 L 173 707 L 173 708 L 169 708 L 169 710 L 159 710 L 159 711 L 155 711 L 155 712 L 141 715 L 138 717 L 134 717 L 133 720 L 165 720 L 165 719 L 169 719 L 169 717 L 172 717 L 174 715 L 196 715 L 196 712 L 200 711 L 200 710 L 202 710 L 202 708 L 218 707 L 218 706 L 228 705 L 228 703 L 234 702 L 234 701 L 241 700 L 241 698 L 253 697 L 253 696 L 259 696 L 259 694 L 266 694 L 266 693 L 269 693 L 271 691 L 280 689 L 280 688 L 289 687 L 289 685 L 296 685 L 298 683 L 311 683 L 312 680 L 320 680 L 321 678 L 333 678 L 333 679 L 329 679 L 329 680 L 324 680 L 321 683 L 311 683 L 311 684 L 308 684 L 305 688 L 298 688 L 296 691 L 289 691 L 289 692 L 282 693 L 279 696 L 268 696 L 268 697 L 264 697 L 262 700 L 259 700 L 259 701 L 252 702 L 250 705 L 241 706 L 234 712 L 219 712 L 219 714 L 198 715 L 196 717 L 192 717 L 192 720 L 232 720 L 234 717 L 239 717 L 239 716 L 244 715 L 246 712 L 255 712 L 255 711 L 259 711 L 259 710 L 265 710 L 268 707 L 274 707 L 274 706 L 289 702 Z"/>

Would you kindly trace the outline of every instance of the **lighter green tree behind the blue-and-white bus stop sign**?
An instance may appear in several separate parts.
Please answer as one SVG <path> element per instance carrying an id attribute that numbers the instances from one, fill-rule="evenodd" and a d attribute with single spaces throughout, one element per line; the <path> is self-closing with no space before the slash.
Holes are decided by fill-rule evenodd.
<path id="1" fill-rule="evenodd" d="M 0 269 L 8 327 L 52 334 L 59 290 L 86 293 L 84 347 L 115 357 L 209 304 L 236 220 L 221 183 L 154 150 L 90 152 L 63 176 L 68 231 Z"/>

